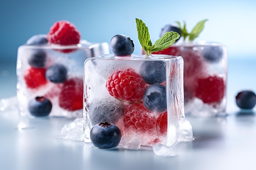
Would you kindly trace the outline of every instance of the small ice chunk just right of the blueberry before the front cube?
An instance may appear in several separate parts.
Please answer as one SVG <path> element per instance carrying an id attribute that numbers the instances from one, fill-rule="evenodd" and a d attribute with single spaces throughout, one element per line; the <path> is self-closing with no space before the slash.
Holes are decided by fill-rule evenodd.
<path id="1" fill-rule="evenodd" d="M 122 137 L 120 141 L 120 146 L 130 150 L 138 150 L 141 146 L 141 139 L 136 135 L 129 135 Z"/>

